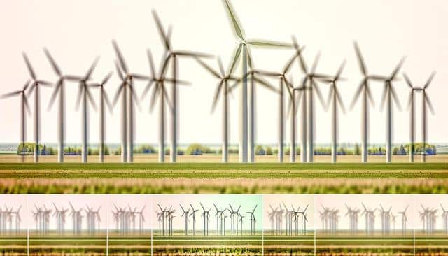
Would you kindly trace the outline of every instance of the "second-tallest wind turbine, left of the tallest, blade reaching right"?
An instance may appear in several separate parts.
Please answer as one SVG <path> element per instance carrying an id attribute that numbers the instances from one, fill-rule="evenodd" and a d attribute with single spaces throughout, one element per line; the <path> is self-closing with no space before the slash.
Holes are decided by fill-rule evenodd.
<path id="1" fill-rule="evenodd" d="M 160 36 L 162 37 L 162 41 L 165 46 L 165 50 L 167 51 L 167 58 L 165 59 L 165 63 L 163 64 L 163 70 L 162 75 L 165 76 L 168 63 L 169 61 L 172 61 L 172 72 L 173 72 L 173 86 L 171 90 L 171 98 L 172 98 L 172 104 L 173 108 L 171 110 L 171 148 L 169 153 L 170 162 L 176 162 L 177 157 L 177 126 L 178 126 L 178 112 L 179 108 L 177 106 L 178 104 L 178 92 L 177 92 L 177 84 L 176 80 L 178 79 L 178 57 L 211 57 L 211 55 L 206 55 L 200 52 L 191 52 L 186 50 L 173 50 L 170 36 L 171 36 L 171 29 L 169 29 L 168 33 L 165 33 L 165 29 L 162 26 L 162 22 L 160 22 L 160 18 L 158 17 L 155 10 L 153 10 L 153 17 L 155 20 L 155 24 L 157 25 L 158 31 Z"/>

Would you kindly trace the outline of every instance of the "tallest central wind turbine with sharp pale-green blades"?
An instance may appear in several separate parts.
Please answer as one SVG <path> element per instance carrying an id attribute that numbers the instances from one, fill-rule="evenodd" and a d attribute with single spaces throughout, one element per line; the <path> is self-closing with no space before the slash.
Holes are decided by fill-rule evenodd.
<path id="1" fill-rule="evenodd" d="M 271 47 L 290 47 L 290 45 L 283 43 L 274 43 L 270 41 L 258 41 L 258 40 L 246 40 L 246 36 L 244 35 L 243 29 L 239 24 L 238 18 L 235 15 L 235 11 L 230 4 L 230 1 L 224 0 L 225 7 L 228 10 L 228 15 L 230 17 L 230 21 L 233 24 L 233 28 L 235 29 L 235 34 L 239 38 L 239 45 L 235 52 L 235 57 L 233 58 L 233 64 L 230 68 L 231 71 L 235 68 L 235 65 L 238 62 L 239 55 L 241 55 L 242 51 L 242 76 L 245 76 L 247 73 L 247 65 L 252 66 L 251 64 L 251 52 L 248 45 L 253 46 L 271 46 Z M 253 92 L 253 90 L 251 90 Z M 247 146 L 248 146 L 248 104 L 247 104 L 247 78 L 243 79 L 243 83 L 241 85 L 241 95 L 240 95 L 240 127 L 239 127 L 239 162 L 247 162 Z M 252 98 L 252 97 L 251 97 Z"/>

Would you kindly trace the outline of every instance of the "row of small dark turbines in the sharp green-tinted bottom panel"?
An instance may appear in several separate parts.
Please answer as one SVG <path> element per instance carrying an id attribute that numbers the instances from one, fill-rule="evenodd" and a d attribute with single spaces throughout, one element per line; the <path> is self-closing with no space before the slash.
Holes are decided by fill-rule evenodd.
<path id="1" fill-rule="evenodd" d="M 242 236 L 244 234 L 243 229 L 243 221 L 246 216 L 249 217 L 249 221 L 251 223 L 251 231 L 250 235 L 255 235 L 256 231 L 256 218 L 255 218 L 255 210 L 257 209 L 258 205 L 255 205 L 252 211 L 247 211 L 246 215 L 241 214 L 241 205 L 238 206 L 238 208 L 234 208 L 231 204 L 229 204 L 228 208 L 218 208 L 216 204 L 214 205 L 215 212 L 215 219 L 216 219 L 216 236 L 225 236 L 226 232 L 229 232 L 229 230 L 226 228 L 228 225 L 225 224 L 226 220 L 228 223 L 230 222 L 230 235 L 232 236 Z M 200 202 L 200 206 L 202 208 L 202 213 L 200 213 L 200 218 L 202 218 L 202 221 L 204 222 L 203 225 L 203 235 L 209 236 L 209 222 L 210 222 L 210 212 L 212 211 L 212 208 L 204 207 L 204 205 Z M 199 214 L 200 208 L 195 208 L 193 204 L 190 204 L 190 206 L 183 206 L 182 204 L 179 204 L 179 207 L 181 209 L 181 215 L 180 218 L 183 218 L 185 220 L 185 229 L 184 234 L 186 236 L 195 236 L 197 234 L 195 229 L 195 223 L 196 223 L 196 214 Z M 176 209 L 173 206 L 169 207 L 162 207 L 160 204 L 158 204 L 158 210 L 155 211 L 157 214 L 157 221 L 159 225 L 159 235 L 160 236 L 173 236 L 173 219 L 176 217 L 174 213 L 176 212 Z M 226 214 L 228 213 L 228 214 Z M 190 229 L 190 222 L 192 222 L 193 229 Z"/>

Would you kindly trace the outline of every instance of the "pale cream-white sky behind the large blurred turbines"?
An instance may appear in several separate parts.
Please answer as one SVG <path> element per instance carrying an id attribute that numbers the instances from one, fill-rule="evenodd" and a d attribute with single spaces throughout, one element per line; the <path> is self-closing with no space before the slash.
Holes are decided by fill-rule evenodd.
<path id="1" fill-rule="evenodd" d="M 435 115 L 428 116 L 428 141 L 447 142 L 447 121 L 444 110 L 448 92 L 445 72 L 448 61 L 448 2 L 428 1 L 232 1 L 247 38 L 261 38 L 290 42 L 294 34 L 300 44 L 306 45 L 304 57 L 311 66 L 312 59 L 322 52 L 318 71 L 334 74 L 343 59 L 347 60 L 343 76 L 349 78 L 340 83 L 340 90 L 348 108 L 356 87 L 360 83 L 360 71 L 353 50 L 357 40 L 370 73 L 388 75 L 402 56 L 407 56 L 402 71 L 408 73 L 415 85 L 421 86 L 432 71 L 437 75 L 428 89 Z M 130 69 L 136 73 L 148 73 L 147 48 L 155 55 L 155 63 L 163 53 L 160 36 L 155 29 L 151 10 L 158 11 L 163 24 L 172 24 L 174 48 L 197 50 L 221 55 L 225 66 L 237 46 L 223 1 L 215 0 L 153 0 L 153 1 L 1 1 L 0 94 L 18 90 L 28 79 L 21 52 L 29 55 L 39 78 L 55 82 L 55 75 L 43 55 L 46 46 L 64 73 L 85 73 L 94 57 L 100 62 L 94 71 L 94 80 L 101 80 L 113 69 L 115 54 L 111 40 L 116 39 L 127 59 Z M 261 69 L 280 71 L 293 55 L 292 50 L 266 50 L 253 48 L 254 65 Z M 209 64 L 217 68 L 215 60 Z M 179 75 L 193 85 L 182 87 L 179 105 L 179 143 L 219 143 L 221 141 L 221 104 L 211 115 L 211 101 L 217 80 L 190 59 L 181 59 Z M 237 69 L 237 73 L 241 71 Z M 302 78 L 297 63 L 291 74 L 294 81 Z M 271 80 L 278 86 L 276 80 Z M 409 90 L 403 81 L 394 84 L 403 111 L 395 110 L 394 141 L 407 142 L 409 138 L 409 114 L 405 110 Z M 118 87 L 118 77 L 113 76 L 107 85 L 112 98 Z M 141 94 L 144 83 L 136 87 Z M 321 85 L 326 96 L 327 86 Z M 371 83 L 375 107 L 371 111 L 370 141 L 385 141 L 385 116 L 379 111 L 383 85 Z M 66 142 L 80 143 L 80 112 L 75 111 L 78 86 L 66 84 Z M 56 108 L 47 112 L 52 89 L 43 88 L 42 133 L 44 143 L 57 142 Z M 98 92 L 93 92 L 98 99 Z M 230 140 L 238 140 L 238 93 L 231 100 Z M 257 90 L 258 143 L 276 143 L 277 97 L 264 88 Z M 316 100 L 317 101 L 317 100 Z M 137 143 L 157 143 L 158 110 L 148 113 L 149 99 L 141 102 L 137 114 Z M 221 103 L 221 101 L 220 101 Z M 32 106 L 32 99 L 30 99 Z M 416 104 L 416 140 L 421 139 L 421 98 Z M 0 101 L 1 142 L 20 140 L 20 100 Z M 57 106 L 57 104 L 55 105 Z M 339 119 L 339 141 L 360 141 L 360 105 Z M 90 113 L 90 141 L 98 141 L 98 115 Z M 107 117 L 109 142 L 120 141 L 120 107 Z M 274 120 L 274 122 L 272 122 Z M 316 102 L 316 143 L 330 143 L 330 115 Z M 167 122 L 168 124 L 169 122 Z M 286 138 L 289 125 L 286 125 Z M 297 125 L 297 127 L 299 127 Z M 300 132 L 300 130 L 297 130 Z M 33 139 L 29 118 L 28 141 Z M 168 140 L 169 138 L 167 138 Z"/>

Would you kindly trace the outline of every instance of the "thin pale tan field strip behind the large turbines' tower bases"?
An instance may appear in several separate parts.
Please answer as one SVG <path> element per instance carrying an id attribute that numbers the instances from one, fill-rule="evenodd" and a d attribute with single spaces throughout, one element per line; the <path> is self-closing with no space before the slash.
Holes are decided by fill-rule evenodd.
<path id="1" fill-rule="evenodd" d="M 81 157 L 80 156 L 72 156 L 72 155 L 66 155 L 64 157 L 64 162 L 80 162 Z M 167 162 L 169 161 L 169 156 L 167 156 Z M 284 160 L 286 163 L 289 162 L 289 156 L 285 156 Z M 300 162 L 300 156 L 297 156 L 296 158 L 297 162 Z M 415 156 L 415 162 L 420 162 L 421 157 Z M 22 157 L 18 155 L 7 155 L 7 154 L 0 154 L 0 162 L 21 162 Z M 338 162 L 342 163 L 359 163 L 360 156 L 359 155 L 340 155 L 337 157 Z M 372 163 L 381 163 L 385 162 L 386 157 L 385 156 L 379 156 L 379 155 L 371 155 L 368 157 L 368 162 Z M 409 158 L 406 155 L 394 155 L 392 157 L 393 162 L 400 162 L 400 163 L 406 163 L 409 162 Z M 32 156 L 26 156 L 25 162 L 33 162 Z M 48 156 L 41 156 L 40 162 L 57 162 L 57 156 L 55 155 L 48 155 Z M 87 162 L 99 162 L 98 156 L 90 155 L 87 157 Z M 104 162 L 106 163 L 118 163 L 120 162 L 120 156 L 119 155 L 106 155 L 104 157 Z M 134 162 L 136 163 L 144 163 L 144 162 L 158 162 L 158 155 L 157 154 L 137 154 L 134 155 Z M 206 155 L 179 155 L 178 157 L 179 163 L 212 163 L 212 162 L 221 162 L 221 155 L 218 154 L 206 154 Z M 238 162 L 238 155 L 237 154 L 230 154 L 229 162 L 236 163 Z M 275 163 L 277 162 L 277 156 L 276 155 L 257 155 L 255 156 L 255 162 L 260 163 Z M 329 155 L 316 155 L 314 156 L 314 162 L 331 162 L 331 157 Z M 448 162 L 448 154 L 447 155 L 432 155 L 432 156 L 426 156 L 426 162 Z"/>

